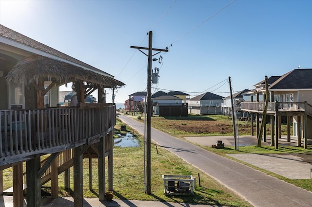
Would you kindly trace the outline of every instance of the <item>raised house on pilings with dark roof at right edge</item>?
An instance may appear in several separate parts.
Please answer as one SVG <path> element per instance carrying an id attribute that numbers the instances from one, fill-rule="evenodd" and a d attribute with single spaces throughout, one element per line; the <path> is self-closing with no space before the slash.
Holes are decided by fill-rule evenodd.
<path id="1" fill-rule="evenodd" d="M 290 142 L 291 136 L 294 136 L 297 138 L 297 146 L 301 146 L 303 139 L 303 146 L 306 149 L 308 142 L 311 141 L 309 139 L 312 138 L 312 128 L 308 127 L 312 124 L 311 78 L 312 69 L 294 69 L 282 76 L 272 76 L 268 79 L 270 95 L 267 115 L 271 118 L 271 145 L 275 148 L 278 148 L 278 139 L 281 138 L 282 117 L 287 120 L 287 142 Z M 241 103 L 241 110 L 249 112 L 252 118 L 255 117 L 258 137 L 259 120 L 263 115 L 266 100 L 265 81 L 261 81 L 254 87 L 248 92 L 251 101 Z M 253 126 L 254 119 L 251 119 L 251 122 Z M 254 135 L 253 127 L 252 135 Z M 266 133 L 263 139 L 266 141 Z"/>

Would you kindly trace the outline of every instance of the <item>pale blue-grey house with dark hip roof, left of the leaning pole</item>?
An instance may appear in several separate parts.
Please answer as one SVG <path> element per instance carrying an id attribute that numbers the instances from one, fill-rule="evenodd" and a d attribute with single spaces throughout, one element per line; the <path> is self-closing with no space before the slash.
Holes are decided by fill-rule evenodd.
<path id="1" fill-rule="evenodd" d="M 188 100 L 189 113 L 192 114 L 221 114 L 223 96 L 214 93 L 203 93 Z"/>

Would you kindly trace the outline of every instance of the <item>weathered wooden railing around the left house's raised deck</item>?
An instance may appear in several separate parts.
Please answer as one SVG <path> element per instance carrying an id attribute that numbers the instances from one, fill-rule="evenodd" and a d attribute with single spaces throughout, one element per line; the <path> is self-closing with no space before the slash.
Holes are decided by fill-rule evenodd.
<path id="1" fill-rule="evenodd" d="M 0 165 L 85 143 L 96 143 L 116 124 L 116 106 L 0 110 Z"/>

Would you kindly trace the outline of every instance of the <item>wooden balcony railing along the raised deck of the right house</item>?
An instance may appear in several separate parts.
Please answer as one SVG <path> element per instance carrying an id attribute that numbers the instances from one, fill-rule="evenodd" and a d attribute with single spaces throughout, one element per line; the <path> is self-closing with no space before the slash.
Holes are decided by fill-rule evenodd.
<path id="1" fill-rule="evenodd" d="M 312 105 L 306 104 L 304 102 L 290 102 L 290 103 L 279 103 L 270 102 L 268 104 L 267 112 L 275 113 L 275 106 L 277 104 L 277 110 L 280 112 L 306 112 L 308 115 L 312 115 Z M 243 102 L 241 103 L 241 109 L 243 111 L 254 111 L 261 112 L 264 111 L 264 102 Z"/>

